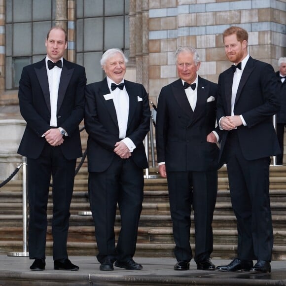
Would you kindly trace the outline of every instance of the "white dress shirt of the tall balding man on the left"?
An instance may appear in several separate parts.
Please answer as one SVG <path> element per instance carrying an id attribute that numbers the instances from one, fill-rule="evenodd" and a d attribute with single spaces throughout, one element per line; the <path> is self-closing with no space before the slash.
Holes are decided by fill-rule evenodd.
<path id="1" fill-rule="evenodd" d="M 50 90 L 50 103 L 51 103 L 51 120 L 50 126 L 57 127 L 57 103 L 58 103 L 58 92 L 60 86 L 60 78 L 62 69 L 55 66 L 53 69 L 48 69 L 48 56 L 46 56 L 46 69 L 48 73 L 49 90 Z M 63 64 L 63 58 L 61 59 Z M 53 61 L 52 61 L 53 62 Z"/>

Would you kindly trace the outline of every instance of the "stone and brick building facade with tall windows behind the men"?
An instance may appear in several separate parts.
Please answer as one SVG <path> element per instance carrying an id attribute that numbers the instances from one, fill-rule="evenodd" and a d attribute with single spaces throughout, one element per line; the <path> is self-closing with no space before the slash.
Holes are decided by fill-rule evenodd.
<path id="1" fill-rule="evenodd" d="M 199 74 L 217 82 L 230 66 L 221 36 L 229 26 L 245 28 L 250 55 L 275 70 L 286 56 L 286 0 L 0 0 L 0 105 L 17 105 L 22 66 L 45 55 L 36 31 L 54 24 L 68 30 L 66 58 L 86 67 L 88 82 L 104 77 L 102 53 L 119 47 L 129 57 L 126 77 L 143 83 L 154 103 L 177 78 L 178 46 L 196 47 Z"/>

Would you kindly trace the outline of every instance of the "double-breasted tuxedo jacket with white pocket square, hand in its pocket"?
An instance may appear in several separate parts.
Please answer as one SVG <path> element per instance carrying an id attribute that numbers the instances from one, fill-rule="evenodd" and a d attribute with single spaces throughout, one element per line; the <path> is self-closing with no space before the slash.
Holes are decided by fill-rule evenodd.
<path id="1" fill-rule="evenodd" d="M 217 84 L 199 76 L 197 88 L 194 111 L 181 79 L 160 92 L 156 115 L 157 160 L 165 162 L 167 171 L 217 169 L 218 147 L 206 140 L 215 129 Z"/>

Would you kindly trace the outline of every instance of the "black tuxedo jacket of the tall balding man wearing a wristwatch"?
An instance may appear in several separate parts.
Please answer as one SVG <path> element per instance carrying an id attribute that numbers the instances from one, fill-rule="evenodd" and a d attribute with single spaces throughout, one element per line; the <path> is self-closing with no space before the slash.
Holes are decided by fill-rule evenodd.
<path id="1" fill-rule="evenodd" d="M 69 135 L 60 145 L 67 159 L 82 156 L 78 125 L 84 115 L 85 85 L 84 68 L 64 59 L 58 92 L 57 123 L 58 127 L 64 128 Z M 50 92 L 45 59 L 24 67 L 18 96 L 21 114 L 27 122 L 18 153 L 36 159 L 46 143 L 41 136 L 51 128 Z"/>

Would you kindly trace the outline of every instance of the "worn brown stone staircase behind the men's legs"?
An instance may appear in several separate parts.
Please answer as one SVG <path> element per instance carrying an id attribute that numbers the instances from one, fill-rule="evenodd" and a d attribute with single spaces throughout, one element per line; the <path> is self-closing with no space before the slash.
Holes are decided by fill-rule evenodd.
<path id="1" fill-rule="evenodd" d="M 286 166 L 271 166 L 270 169 L 270 196 L 275 235 L 273 260 L 283 260 L 286 258 Z M 149 173 L 155 178 L 145 179 L 143 211 L 139 225 L 136 255 L 174 257 L 167 180 L 159 178 L 156 168 L 150 168 Z M 218 176 L 218 193 L 213 222 L 214 252 L 212 256 L 213 258 L 231 258 L 236 256 L 237 231 L 236 219 L 230 203 L 226 167 L 219 170 Z M 75 177 L 68 239 L 70 255 L 95 255 L 97 253 L 92 217 L 91 215 L 79 215 L 88 214 L 90 211 L 87 178 L 87 167 L 84 163 Z M 50 198 L 48 204 L 49 225 L 51 213 Z M 120 216 L 117 214 L 116 236 L 119 229 Z M 193 228 L 191 229 L 190 241 L 193 246 Z M 47 234 L 48 255 L 51 254 L 51 247 L 52 236 L 49 226 Z M 0 188 L 0 253 L 22 250 L 22 180 L 15 178 Z"/>

